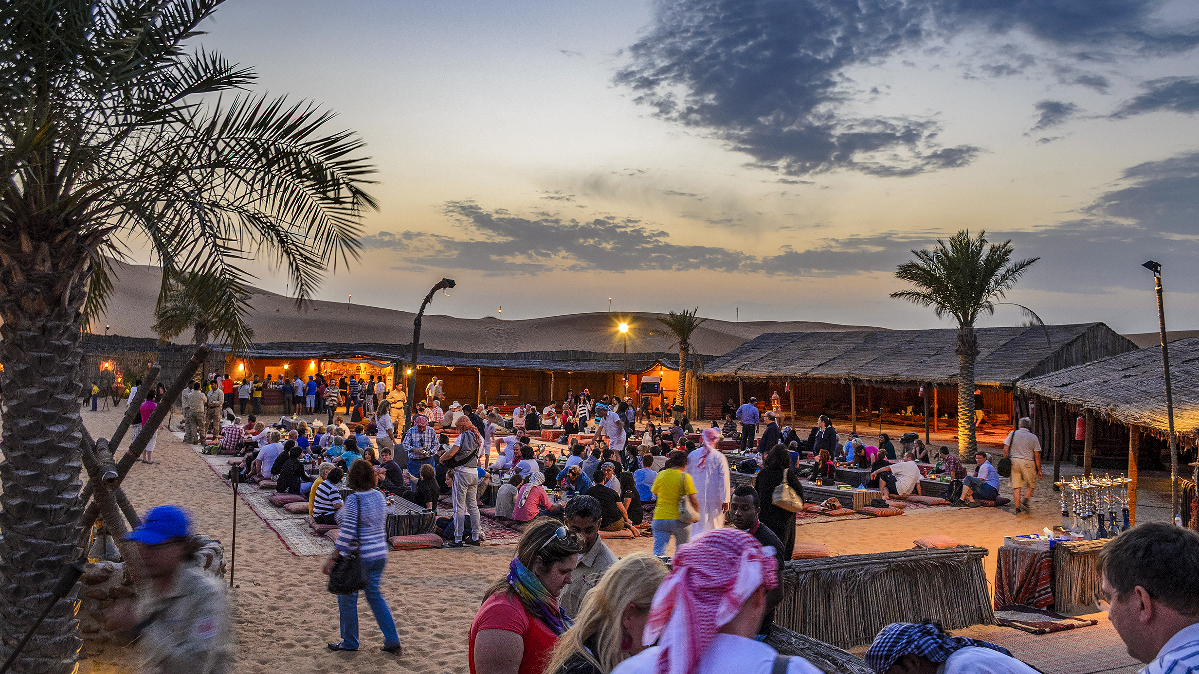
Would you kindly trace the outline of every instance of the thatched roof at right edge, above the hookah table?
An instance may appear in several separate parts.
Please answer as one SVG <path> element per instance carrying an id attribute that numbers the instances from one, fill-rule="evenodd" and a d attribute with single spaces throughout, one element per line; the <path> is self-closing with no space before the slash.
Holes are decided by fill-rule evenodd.
<path id="1" fill-rule="evenodd" d="M 1195 438 L 1199 427 L 1199 337 L 1169 343 L 1174 428 Z M 1020 381 L 1024 393 L 1093 410 L 1099 417 L 1167 437 L 1165 377 L 1161 347 L 1139 349 Z"/>

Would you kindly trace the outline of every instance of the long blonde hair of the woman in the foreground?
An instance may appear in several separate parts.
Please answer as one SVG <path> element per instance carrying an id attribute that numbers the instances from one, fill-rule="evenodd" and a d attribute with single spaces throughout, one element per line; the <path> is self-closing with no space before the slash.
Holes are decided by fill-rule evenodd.
<path id="1" fill-rule="evenodd" d="M 546 672 L 561 670 L 576 655 L 601 672 L 615 669 L 629 656 L 620 648 L 625 607 L 633 604 L 635 610 L 649 613 L 653 592 L 665 577 L 667 565 L 649 553 L 634 553 L 611 565 L 583 600 L 574 625 L 558 639 Z M 596 638 L 594 655 L 583 645 L 591 637 Z"/>

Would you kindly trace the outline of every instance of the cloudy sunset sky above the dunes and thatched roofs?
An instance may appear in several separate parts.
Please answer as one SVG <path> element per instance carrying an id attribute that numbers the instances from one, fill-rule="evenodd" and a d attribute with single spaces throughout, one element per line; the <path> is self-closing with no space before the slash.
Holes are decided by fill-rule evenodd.
<path id="1" fill-rule="evenodd" d="M 947 327 L 887 295 L 970 229 L 1041 258 L 1010 300 L 1047 323 L 1156 330 L 1155 259 L 1199 329 L 1195 2 L 229 0 L 204 29 L 378 166 L 319 299 L 415 311 L 445 276 L 430 313 Z"/>

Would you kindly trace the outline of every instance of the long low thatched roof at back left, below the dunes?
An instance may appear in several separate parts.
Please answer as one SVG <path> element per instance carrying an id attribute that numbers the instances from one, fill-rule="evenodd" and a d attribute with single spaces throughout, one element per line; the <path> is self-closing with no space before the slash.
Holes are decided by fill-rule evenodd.
<path id="1" fill-rule="evenodd" d="M 209 344 L 215 353 L 227 349 L 219 344 Z M 89 351 L 159 351 L 163 347 L 155 339 L 88 335 L 84 348 Z M 170 345 L 168 348 L 179 349 Z M 409 344 L 344 344 L 332 342 L 272 342 L 252 344 L 242 354 L 249 360 L 370 360 L 379 363 L 410 359 Z M 698 356 L 711 360 L 713 356 Z M 464 367 L 484 369 L 540 369 L 553 372 L 623 372 L 626 360 L 623 354 L 604 354 L 597 351 L 514 351 L 495 354 L 464 354 L 440 349 L 424 349 L 417 356 L 422 366 Z M 628 372 L 644 372 L 651 367 L 679 369 L 679 355 L 669 353 L 628 354 Z"/>

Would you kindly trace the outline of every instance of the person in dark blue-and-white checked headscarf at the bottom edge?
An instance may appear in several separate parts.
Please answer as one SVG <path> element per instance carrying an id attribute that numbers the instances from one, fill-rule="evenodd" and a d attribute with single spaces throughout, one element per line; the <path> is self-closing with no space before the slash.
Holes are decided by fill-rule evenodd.
<path id="1" fill-rule="evenodd" d="M 1034 674 L 1036 669 L 1012 657 L 999 644 L 969 637 L 951 637 L 936 622 L 892 622 L 882 628 L 866 664 L 879 674 Z"/>

